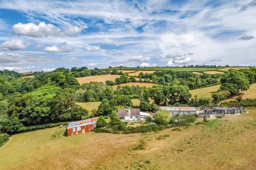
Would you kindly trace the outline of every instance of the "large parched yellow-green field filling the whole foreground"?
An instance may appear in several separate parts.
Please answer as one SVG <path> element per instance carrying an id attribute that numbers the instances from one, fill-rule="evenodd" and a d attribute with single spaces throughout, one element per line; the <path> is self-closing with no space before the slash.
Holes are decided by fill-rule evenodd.
<path id="1" fill-rule="evenodd" d="M 145 134 L 14 134 L 0 169 L 256 169 L 256 112 Z"/>

